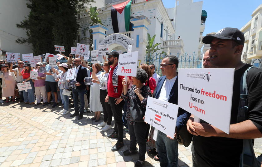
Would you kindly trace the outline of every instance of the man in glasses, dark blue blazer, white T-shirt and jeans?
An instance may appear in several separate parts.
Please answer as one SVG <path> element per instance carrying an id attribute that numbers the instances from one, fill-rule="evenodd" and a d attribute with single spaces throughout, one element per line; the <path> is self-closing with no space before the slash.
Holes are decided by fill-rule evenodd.
<path id="1" fill-rule="evenodd" d="M 178 88 L 178 59 L 176 56 L 166 56 L 160 64 L 162 76 L 159 78 L 158 85 L 154 91 L 153 97 L 161 101 L 166 101 L 177 105 Z M 177 123 L 174 136 L 167 136 L 158 130 L 156 148 L 160 160 L 160 166 L 177 166 L 178 164 L 178 143 L 176 140 L 177 131 L 186 124 L 190 113 L 179 107 L 177 114 Z M 170 125 L 174 126 L 174 125 Z M 173 139 L 173 140 L 172 140 Z"/>

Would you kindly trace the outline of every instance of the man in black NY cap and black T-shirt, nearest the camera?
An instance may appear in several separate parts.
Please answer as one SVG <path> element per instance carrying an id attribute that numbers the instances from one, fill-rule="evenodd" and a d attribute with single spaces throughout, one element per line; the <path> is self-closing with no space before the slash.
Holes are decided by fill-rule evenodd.
<path id="1" fill-rule="evenodd" d="M 204 121 L 192 122 L 194 115 L 187 121 L 187 130 L 194 135 L 191 149 L 193 167 L 239 167 L 243 149 L 242 139 L 262 137 L 261 68 L 251 68 L 247 73 L 248 119 L 237 121 L 240 84 L 242 85 L 240 79 L 251 66 L 241 61 L 244 41 L 244 34 L 237 28 L 223 28 L 216 35 L 203 38 L 203 43 L 211 46 L 209 51 L 211 64 L 217 68 L 235 68 L 235 74 L 229 134 Z"/>

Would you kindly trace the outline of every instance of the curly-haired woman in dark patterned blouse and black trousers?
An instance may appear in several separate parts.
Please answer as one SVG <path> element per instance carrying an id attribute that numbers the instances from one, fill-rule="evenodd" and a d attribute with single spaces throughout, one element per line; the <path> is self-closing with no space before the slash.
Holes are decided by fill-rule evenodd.
<path id="1" fill-rule="evenodd" d="M 148 96 L 151 96 L 151 91 L 144 83 L 147 81 L 148 75 L 143 69 L 137 69 L 136 77 L 133 76 L 133 86 L 127 91 L 127 84 L 123 79 L 124 92 L 122 98 L 127 101 L 126 120 L 128 121 L 128 129 L 130 135 L 130 149 L 125 150 L 123 155 L 132 155 L 136 153 L 136 143 L 139 146 L 139 159 L 135 166 L 143 166 L 146 154 L 145 134 L 148 129 L 148 124 L 143 120 L 146 111 Z"/>

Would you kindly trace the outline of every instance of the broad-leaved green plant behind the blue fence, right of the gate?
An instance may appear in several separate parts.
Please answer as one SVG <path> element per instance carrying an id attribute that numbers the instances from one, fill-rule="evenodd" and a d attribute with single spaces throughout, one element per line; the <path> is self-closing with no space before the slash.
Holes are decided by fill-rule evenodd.
<path id="1" fill-rule="evenodd" d="M 167 52 L 158 52 L 158 50 L 160 50 L 160 48 L 158 48 L 158 45 L 160 45 L 161 43 L 154 43 L 156 35 L 154 35 L 152 38 L 150 37 L 150 34 L 148 33 L 148 43 L 146 46 L 146 63 L 147 64 L 152 64 L 153 61 L 156 60 L 162 60 L 163 57 L 165 55 L 167 55 Z M 158 57 L 159 55 L 159 57 Z"/>

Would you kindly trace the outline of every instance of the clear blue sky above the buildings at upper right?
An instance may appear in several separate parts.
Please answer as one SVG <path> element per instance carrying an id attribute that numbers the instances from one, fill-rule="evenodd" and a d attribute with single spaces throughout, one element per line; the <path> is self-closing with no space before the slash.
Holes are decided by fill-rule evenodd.
<path id="1" fill-rule="evenodd" d="M 175 7 L 175 0 L 162 0 L 166 8 Z M 200 0 L 193 0 L 198 2 Z M 252 12 L 262 4 L 262 0 L 203 0 L 202 9 L 207 12 L 203 36 L 218 32 L 224 27 L 240 29 L 250 19 Z"/>

